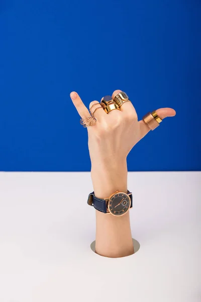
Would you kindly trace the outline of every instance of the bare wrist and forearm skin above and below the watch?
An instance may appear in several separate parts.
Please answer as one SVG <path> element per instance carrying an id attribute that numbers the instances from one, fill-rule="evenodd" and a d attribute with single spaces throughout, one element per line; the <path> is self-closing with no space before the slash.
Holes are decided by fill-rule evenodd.
<path id="1" fill-rule="evenodd" d="M 116 190 L 127 193 L 127 164 L 108 162 L 92 165 L 95 196 L 107 198 Z M 134 253 L 129 212 L 116 217 L 96 210 L 95 252 L 106 257 L 124 257 Z"/>

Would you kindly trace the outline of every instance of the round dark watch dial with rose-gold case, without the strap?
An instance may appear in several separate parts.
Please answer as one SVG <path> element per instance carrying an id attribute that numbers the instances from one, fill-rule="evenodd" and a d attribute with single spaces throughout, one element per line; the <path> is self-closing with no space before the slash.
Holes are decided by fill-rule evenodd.
<path id="1" fill-rule="evenodd" d="M 112 215 L 122 216 L 126 214 L 131 206 L 129 195 L 118 192 L 114 194 L 108 202 L 108 209 Z"/>

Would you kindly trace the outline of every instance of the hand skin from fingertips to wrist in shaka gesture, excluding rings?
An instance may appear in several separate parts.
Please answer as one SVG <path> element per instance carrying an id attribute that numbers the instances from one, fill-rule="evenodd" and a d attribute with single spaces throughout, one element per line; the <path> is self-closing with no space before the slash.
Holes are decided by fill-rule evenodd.
<path id="1" fill-rule="evenodd" d="M 114 99 L 120 92 L 121 90 L 114 91 L 112 98 Z M 88 117 L 90 113 L 78 94 L 72 92 L 70 96 L 79 115 L 82 118 Z M 91 102 L 89 108 L 95 103 L 98 102 Z M 171 108 L 161 108 L 156 112 L 161 119 L 176 114 Z M 117 162 L 125 162 L 133 146 L 150 131 L 143 120 L 138 121 L 136 110 L 131 102 L 124 103 L 121 111 L 113 110 L 109 114 L 100 108 L 95 111 L 94 116 L 97 120 L 96 124 L 87 128 L 92 167 L 103 164 L 113 166 Z"/>

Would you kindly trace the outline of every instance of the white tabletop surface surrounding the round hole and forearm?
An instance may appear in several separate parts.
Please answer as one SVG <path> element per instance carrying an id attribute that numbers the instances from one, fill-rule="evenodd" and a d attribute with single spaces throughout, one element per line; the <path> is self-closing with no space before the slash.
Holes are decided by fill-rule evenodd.
<path id="1" fill-rule="evenodd" d="M 0 301 L 200 301 L 200 184 L 129 173 L 140 250 L 110 259 L 90 249 L 89 173 L 0 173 Z"/>

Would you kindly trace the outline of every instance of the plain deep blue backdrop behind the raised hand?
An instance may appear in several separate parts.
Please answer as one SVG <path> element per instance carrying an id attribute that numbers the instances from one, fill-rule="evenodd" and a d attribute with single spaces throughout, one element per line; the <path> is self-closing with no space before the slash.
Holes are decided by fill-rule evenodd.
<path id="1" fill-rule="evenodd" d="M 0 170 L 89 171 L 71 104 L 126 91 L 139 118 L 172 107 L 130 171 L 201 170 L 199 0 L 3 0 Z"/>

